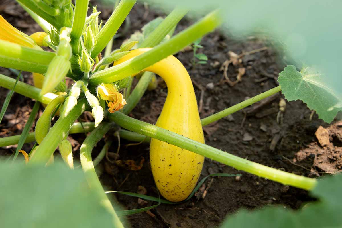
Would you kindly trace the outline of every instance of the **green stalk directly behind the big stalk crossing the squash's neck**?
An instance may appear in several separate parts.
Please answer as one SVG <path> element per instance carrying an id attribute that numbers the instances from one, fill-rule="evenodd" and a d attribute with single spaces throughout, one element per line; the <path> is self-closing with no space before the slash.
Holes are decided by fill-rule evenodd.
<path id="1" fill-rule="evenodd" d="M 188 12 L 187 9 L 180 7 L 175 8 L 158 26 L 150 33 L 146 40 L 144 40 L 139 48 L 153 48 L 158 45 L 166 35 L 178 24 L 178 22 Z"/>

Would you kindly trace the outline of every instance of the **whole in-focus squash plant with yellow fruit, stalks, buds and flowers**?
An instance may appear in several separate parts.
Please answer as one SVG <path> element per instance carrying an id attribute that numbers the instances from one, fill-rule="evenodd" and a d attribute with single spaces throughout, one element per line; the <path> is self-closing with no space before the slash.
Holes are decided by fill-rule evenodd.
<path id="1" fill-rule="evenodd" d="M 83 128 L 81 130 L 75 121 L 82 112 L 91 111 L 95 122 L 86 124 L 91 134 L 80 148 L 81 166 L 89 187 L 97 192 L 96 197 L 110 213 L 116 227 L 123 226 L 98 180 L 91 156 L 93 147 L 115 124 L 131 131 L 120 130 L 121 137 L 141 140 L 141 135 L 145 135 L 152 138 L 150 161 L 153 176 L 161 195 L 172 202 L 186 199 L 193 191 L 204 157 L 284 185 L 306 190 L 316 186 L 315 179 L 273 169 L 204 144 L 201 126 L 278 93 L 282 86 L 285 96 L 291 100 L 296 99 L 291 91 L 293 83 L 323 83 L 306 80 L 305 76 L 312 76 L 307 68 L 299 72 L 293 66 L 288 66 L 281 73 L 280 85 L 276 88 L 200 120 L 189 75 L 172 54 L 220 26 L 218 10 L 210 12 L 170 38 L 174 27 L 187 13 L 187 10 L 175 8 L 165 19 L 154 23 L 151 32 L 144 34 L 143 31 L 137 39 L 131 37 L 119 49 L 112 51 L 111 39 L 135 0 L 121 0 L 104 25 L 98 20 L 100 12 L 97 12 L 96 7 L 88 16 L 89 0 L 77 0 L 75 5 L 71 0 L 17 2 L 41 25 L 44 32 L 29 37 L 0 17 L 0 66 L 32 72 L 36 86 L 4 75 L 0 75 L 0 85 L 46 104 L 47 107 L 37 121 L 34 135 L 27 131 L 21 136 L 1 138 L 0 145 L 18 142 L 22 145 L 34 140 L 35 136 L 39 145 L 29 154 L 28 165 L 51 162 L 59 147 L 63 160 L 73 168 L 71 145 L 66 137 L 71 133 L 86 131 Z M 47 46 L 50 51 L 44 51 L 40 46 Z M 106 52 L 102 56 L 101 52 L 105 48 Z M 109 67 L 111 64 L 113 66 Z M 127 116 L 146 91 L 152 79 L 149 72 L 163 77 L 168 85 L 167 100 L 156 125 Z M 130 93 L 131 77 L 138 73 L 143 74 Z M 65 84 L 66 77 L 75 81 L 71 88 Z M 124 96 L 120 91 L 124 91 Z M 320 117 L 330 122 L 333 119 L 331 113 L 336 115 L 340 107 L 336 105 L 338 98 L 328 93 L 331 102 L 326 103 L 326 106 L 333 112 L 328 116 L 320 114 Z M 51 117 L 58 109 L 60 117 L 50 128 Z M 32 118 L 35 115 L 32 113 Z M 31 123 L 28 121 L 27 129 Z"/>

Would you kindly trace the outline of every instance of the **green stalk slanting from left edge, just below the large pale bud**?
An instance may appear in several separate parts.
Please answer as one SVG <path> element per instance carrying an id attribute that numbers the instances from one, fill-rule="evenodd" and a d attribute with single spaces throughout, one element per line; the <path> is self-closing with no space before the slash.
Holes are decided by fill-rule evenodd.
<path id="1" fill-rule="evenodd" d="M 5 75 L 0 74 L 0 86 L 6 88 L 6 89 L 13 89 L 13 86 L 15 84 L 15 79 L 7 77 Z M 40 96 L 40 89 L 38 89 L 35 86 L 26 84 L 24 82 L 18 81 L 17 85 L 14 88 L 14 92 L 24 95 L 26 97 L 38 100 L 39 102 L 43 104 L 49 104 L 51 100 L 57 97 L 54 93 L 47 93 L 43 96 Z"/>

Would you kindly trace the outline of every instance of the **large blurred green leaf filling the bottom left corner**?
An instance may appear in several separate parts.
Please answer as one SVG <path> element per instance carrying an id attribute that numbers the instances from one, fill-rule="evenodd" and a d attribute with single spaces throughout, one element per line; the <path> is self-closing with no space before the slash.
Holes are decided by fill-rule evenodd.
<path id="1" fill-rule="evenodd" d="M 1 227 L 114 227 L 81 170 L 0 162 Z"/>

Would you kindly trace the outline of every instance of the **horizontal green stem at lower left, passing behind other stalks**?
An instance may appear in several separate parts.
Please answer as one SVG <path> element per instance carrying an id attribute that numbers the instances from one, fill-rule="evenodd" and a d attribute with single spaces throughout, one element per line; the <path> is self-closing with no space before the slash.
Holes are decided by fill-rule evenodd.
<path id="1" fill-rule="evenodd" d="M 73 126 L 71 126 L 69 134 L 76 134 L 76 133 L 82 133 L 82 132 L 91 132 L 94 130 L 94 122 L 84 122 L 84 123 L 74 123 Z M 122 130 L 123 131 L 123 130 Z M 136 134 L 134 132 L 134 134 Z M 145 138 L 143 135 L 137 134 L 137 138 Z M 16 145 L 19 143 L 21 135 L 13 135 L 13 136 L 8 136 L 8 137 L 3 137 L 0 138 L 0 147 L 3 146 L 10 146 L 10 145 Z M 35 142 L 35 132 L 31 132 L 28 134 L 25 143 L 31 143 Z M 138 141 L 139 142 L 139 141 Z"/>

